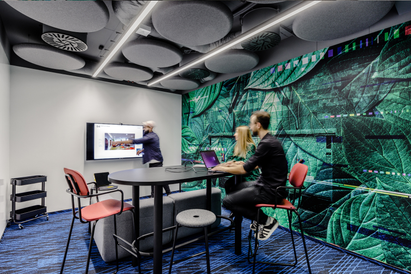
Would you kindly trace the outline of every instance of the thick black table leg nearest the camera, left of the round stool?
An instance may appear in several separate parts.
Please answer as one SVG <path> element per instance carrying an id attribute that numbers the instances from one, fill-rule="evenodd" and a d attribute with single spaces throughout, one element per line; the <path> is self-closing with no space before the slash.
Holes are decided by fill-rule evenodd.
<path id="1" fill-rule="evenodd" d="M 161 274 L 163 268 L 163 186 L 154 186 L 153 240 L 153 274 Z"/>

